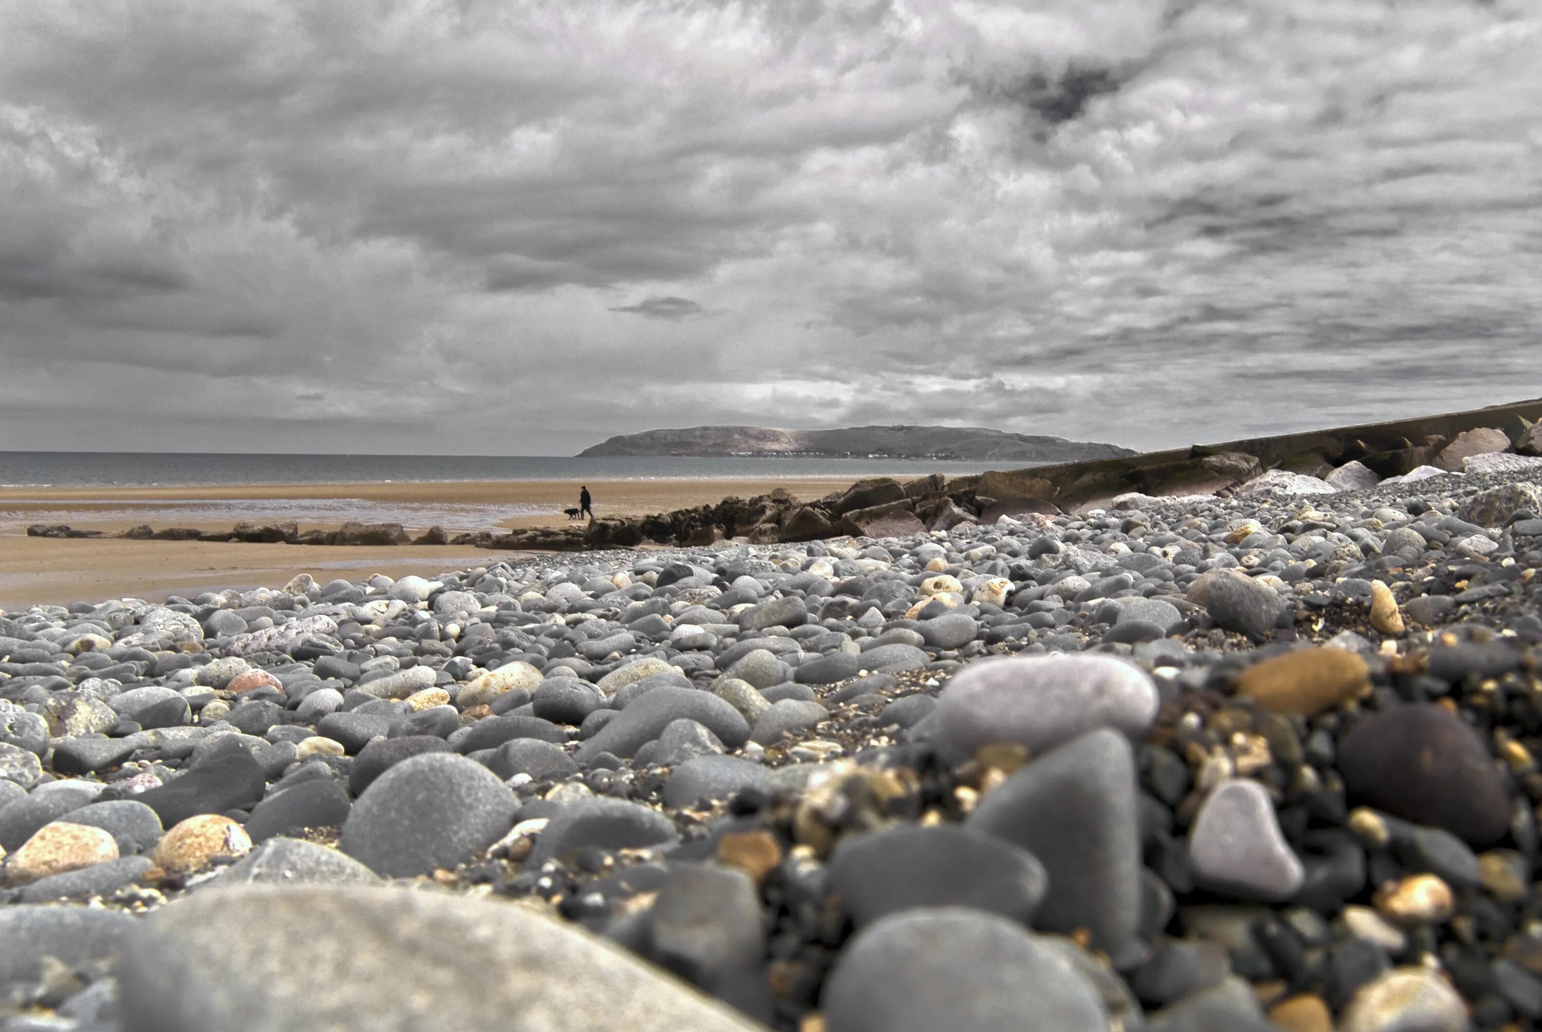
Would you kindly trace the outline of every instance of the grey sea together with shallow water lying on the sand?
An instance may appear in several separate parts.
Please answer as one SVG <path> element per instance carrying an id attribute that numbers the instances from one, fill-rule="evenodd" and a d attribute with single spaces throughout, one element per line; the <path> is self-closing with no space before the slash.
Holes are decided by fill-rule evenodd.
<path id="1" fill-rule="evenodd" d="M 608 480 L 782 480 L 803 477 L 924 477 L 1015 469 L 1027 463 L 959 463 L 893 458 L 810 457 L 558 457 L 558 455 L 256 455 L 225 452 L 0 452 L 0 489 L 114 487 L 111 498 L 71 500 L 69 509 L 8 512 L 0 500 L 0 535 L 26 523 L 69 523 L 82 509 L 91 521 L 217 526 L 225 521 L 295 520 L 302 524 L 365 520 L 446 531 L 493 529 L 509 517 L 560 514 L 560 503 L 469 504 L 365 498 L 248 498 L 258 484 L 375 484 L 461 481 Z M 128 487 L 228 487 L 211 500 L 136 498 Z"/>

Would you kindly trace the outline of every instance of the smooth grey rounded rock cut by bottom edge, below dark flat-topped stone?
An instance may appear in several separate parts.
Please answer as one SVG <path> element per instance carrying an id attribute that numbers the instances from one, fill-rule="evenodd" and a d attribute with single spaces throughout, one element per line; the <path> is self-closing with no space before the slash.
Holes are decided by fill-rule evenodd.
<path id="1" fill-rule="evenodd" d="M 1058 950 L 979 910 L 890 915 L 840 953 L 828 1032 L 1106 1032 L 1096 990 Z"/>

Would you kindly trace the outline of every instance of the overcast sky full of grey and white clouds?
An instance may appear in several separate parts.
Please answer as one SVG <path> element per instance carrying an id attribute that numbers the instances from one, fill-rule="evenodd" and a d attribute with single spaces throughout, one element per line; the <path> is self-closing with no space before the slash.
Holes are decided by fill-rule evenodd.
<path id="1" fill-rule="evenodd" d="M 0 447 L 1542 395 L 1536 0 L 0 0 Z"/>

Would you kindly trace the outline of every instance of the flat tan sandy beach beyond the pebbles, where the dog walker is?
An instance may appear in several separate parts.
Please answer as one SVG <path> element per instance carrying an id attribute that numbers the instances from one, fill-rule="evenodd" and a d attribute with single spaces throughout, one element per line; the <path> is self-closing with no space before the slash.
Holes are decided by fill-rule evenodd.
<path id="1" fill-rule="evenodd" d="M 785 487 L 819 498 L 850 478 L 591 481 L 597 515 L 641 515 Z M 464 546 L 327 548 L 210 541 L 59 540 L 26 537 L 31 523 L 125 531 L 193 526 L 227 529 L 241 518 L 298 518 L 301 529 L 344 520 L 399 520 L 409 531 L 529 528 L 567 523 L 571 481 L 244 484 L 193 487 L 11 487 L 0 491 L 0 609 L 133 595 L 151 602 L 224 588 L 282 585 L 299 572 L 318 580 L 382 572 L 432 575 L 497 554 Z M 273 514 L 273 515 L 265 515 Z M 304 517 L 322 518 L 304 518 Z"/>

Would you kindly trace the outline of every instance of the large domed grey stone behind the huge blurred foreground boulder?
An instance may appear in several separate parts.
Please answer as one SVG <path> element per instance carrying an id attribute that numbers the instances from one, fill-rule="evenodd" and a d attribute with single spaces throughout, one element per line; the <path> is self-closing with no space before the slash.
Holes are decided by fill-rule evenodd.
<path id="1" fill-rule="evenodd" d="M 358 798 L 342 852 L 389 878 L 455 867 L 497 842 L 513 821 L 513 793 L 490 770 L 452 753 L 406 759 Z"/>

